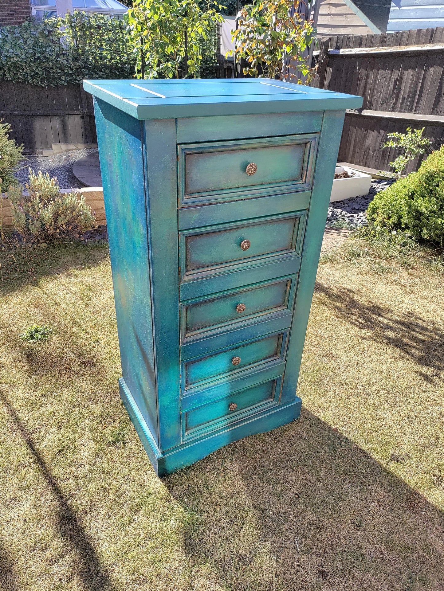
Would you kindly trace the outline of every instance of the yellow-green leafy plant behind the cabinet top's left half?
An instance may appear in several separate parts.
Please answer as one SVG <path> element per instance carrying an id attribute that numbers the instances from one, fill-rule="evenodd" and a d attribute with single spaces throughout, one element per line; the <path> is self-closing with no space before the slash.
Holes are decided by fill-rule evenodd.
<path id="1" fill-rule="evenodd" d="M 199 77 L 202 44 L 222 17 L 197 0 L 135 0 L 127 15 L 128 32 L 137 57 L 137 77 Z"/>

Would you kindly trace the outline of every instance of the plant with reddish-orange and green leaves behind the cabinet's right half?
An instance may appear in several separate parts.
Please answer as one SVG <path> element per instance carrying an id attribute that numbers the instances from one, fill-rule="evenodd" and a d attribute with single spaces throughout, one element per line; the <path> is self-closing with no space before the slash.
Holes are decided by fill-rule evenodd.
<path id="1" fill-rule="evenodd" d="M 300 72 L 304 83 L 312 80 L 315 71 L 306 50 L 316 43 L 316 28 L 296 12 L 299 4 L 300 0 L 254 0 L 242 9 L 232 36 L 236 57 L 247 61 L 244 74 L 286 80 Z"/>

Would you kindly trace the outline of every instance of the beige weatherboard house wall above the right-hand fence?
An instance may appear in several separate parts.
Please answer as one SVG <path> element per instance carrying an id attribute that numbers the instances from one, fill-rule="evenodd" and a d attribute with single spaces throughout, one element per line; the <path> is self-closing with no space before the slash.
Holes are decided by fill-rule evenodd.
<path id="1" fill-rule="evenodd" d="M 322 0 L 317 20 L 319 37 L 374 33 L 343 0 Z"/>

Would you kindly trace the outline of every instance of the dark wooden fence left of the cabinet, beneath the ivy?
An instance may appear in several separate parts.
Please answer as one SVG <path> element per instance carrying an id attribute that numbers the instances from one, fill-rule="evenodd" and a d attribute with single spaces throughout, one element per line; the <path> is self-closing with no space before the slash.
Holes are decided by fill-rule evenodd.
<path id="1" fill-rule="evenodd" d="M 80 84 L 44 87 L 0 80 L 0 119 L 25 154 L 42 154 L 53 144 L 96 144 L 92 96 Z"/>

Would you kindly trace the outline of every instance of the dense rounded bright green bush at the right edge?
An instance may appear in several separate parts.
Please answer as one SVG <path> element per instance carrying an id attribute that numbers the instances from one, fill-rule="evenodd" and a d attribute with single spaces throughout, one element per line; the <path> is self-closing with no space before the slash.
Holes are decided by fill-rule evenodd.
<path id="1" fill-rule="evenodd" d="M 367 210 L 370 230 L 403 232 L 420 241 L 444 238 L 444 146 L 430 154 L 417 173 L 375 196 Z"/>

